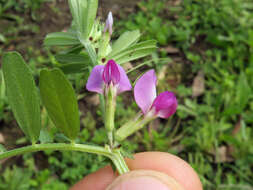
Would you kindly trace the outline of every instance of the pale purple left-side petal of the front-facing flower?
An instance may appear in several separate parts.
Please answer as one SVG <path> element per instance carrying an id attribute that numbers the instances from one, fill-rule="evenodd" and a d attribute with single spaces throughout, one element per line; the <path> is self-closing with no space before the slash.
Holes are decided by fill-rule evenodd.
<path id="1" fill-rule="evenodd" d="M 88 78 L 88 82 L 86 84 L 86 88 L 88 91 L 97 92 L 100 94 L 103 93 L 104 81 L 102 78 L 102 74 L 104 67 L 104 65 L 97 65 L 92 69 L 91 74 Z"/>

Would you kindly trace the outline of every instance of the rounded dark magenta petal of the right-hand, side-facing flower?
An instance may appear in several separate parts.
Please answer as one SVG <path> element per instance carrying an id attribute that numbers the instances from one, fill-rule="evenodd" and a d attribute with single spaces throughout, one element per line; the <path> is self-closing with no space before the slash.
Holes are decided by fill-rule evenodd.
<path id="1" fill-rule="evenodd" d="M 176 112 L 177 98 L 173 92 L 163 92 L 157 96 L 152 107 L 158 117 L 168 118 Z"/>

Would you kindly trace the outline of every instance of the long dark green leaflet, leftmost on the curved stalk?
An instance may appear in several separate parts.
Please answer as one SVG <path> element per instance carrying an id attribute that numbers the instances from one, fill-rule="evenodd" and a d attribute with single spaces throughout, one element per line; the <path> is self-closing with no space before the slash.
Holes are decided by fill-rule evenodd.
<path id="1" fill-rule="evenodd" d="M 3 56 L 7 97 L 14 116 L 25 135 L 36 143 L 41 130 L 40 99 L 29 67 L 17 52 Z"/>

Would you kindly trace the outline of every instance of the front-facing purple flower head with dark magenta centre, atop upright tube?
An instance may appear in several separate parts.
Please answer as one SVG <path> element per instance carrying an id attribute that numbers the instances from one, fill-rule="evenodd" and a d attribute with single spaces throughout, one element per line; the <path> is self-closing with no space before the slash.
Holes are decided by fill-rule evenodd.
<path id="1" fill-rule="evenodd" d="M 95 66 L 88 78 L 86 88 L 88 91 L 103 94 L 105 88 L 109 88 L 110 85 L 116 89 L 117 94 L 132 89 L 126 72 L 114 60 L 109 60 L 106 65 Z"/>

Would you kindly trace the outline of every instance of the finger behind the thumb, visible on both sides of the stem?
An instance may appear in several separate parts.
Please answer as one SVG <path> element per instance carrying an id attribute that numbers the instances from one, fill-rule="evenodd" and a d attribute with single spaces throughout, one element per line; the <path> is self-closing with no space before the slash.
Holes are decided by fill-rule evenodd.
<path id="1" fill-rule="evenodd" d="M 192 167 L 179 157 L 164 152 L 143 152 L 126 159 L 130 170 L 153 170 L 177 181 L 186 190 L 202 190 L 198 175 Z M 124 176 L 123 176 L 124 177 Z M 117 178 L 110 166 L 86 176 L 70 190 L 105 190 Z"/>

